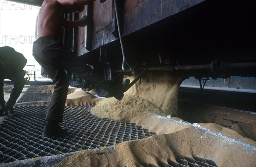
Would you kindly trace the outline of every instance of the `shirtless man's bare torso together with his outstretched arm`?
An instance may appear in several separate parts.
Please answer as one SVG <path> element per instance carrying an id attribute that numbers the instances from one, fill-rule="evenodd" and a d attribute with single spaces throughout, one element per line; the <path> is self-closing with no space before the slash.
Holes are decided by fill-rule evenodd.
<path id="1" fill-rule="evenodd" d="M 74 28 L 85 21 L 67 21 L 64 19 L 64 13 L 79 11 L 84 9 L 84 5 L 94 0 L 44 0 L 38 13 L 35 28 L 35 39 L 40 37 L 54 35 L 58 37 L 61 27 Z"/>

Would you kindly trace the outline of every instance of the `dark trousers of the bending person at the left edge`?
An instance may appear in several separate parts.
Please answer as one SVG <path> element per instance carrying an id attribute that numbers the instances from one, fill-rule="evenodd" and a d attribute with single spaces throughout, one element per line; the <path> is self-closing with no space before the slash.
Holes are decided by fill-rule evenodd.
<path id="1" fill-rule="evenodd" d="M 12 93 L 10 94 L 10 98 L 7 102 L 4 100 L 4 95 L 3 95 L 3 80 L 4 79 L 10 79 L 11 81 L 14 82 L 14 87 L 12 90 Z M 1 74 L 0 74 L 0 103 L 2 105 L 5 105 L 9 108 L 12 108 L 18 97 L 20 96 L 20 93 L 22 89 L 24 88 L 25 85 L 25 79 L 24 79 L 24 71 L 23 70 L 3 70 L 1 69 Z"/>

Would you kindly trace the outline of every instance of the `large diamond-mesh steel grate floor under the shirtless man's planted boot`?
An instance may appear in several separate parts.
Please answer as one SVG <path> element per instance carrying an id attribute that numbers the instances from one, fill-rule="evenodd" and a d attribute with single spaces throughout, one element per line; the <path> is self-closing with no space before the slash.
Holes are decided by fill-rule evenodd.
<path id="1" fill-rule="evenodd" d="M 65 107 L 63 127 L 69 131 L 64 139 L 41 136 L 47 106 L 15 108 L 17 116 L 0 123 L 0 163 L 107 147 L 156 134 L 134 123 L 100 119 L 90 113 L 91 107 Z"/>

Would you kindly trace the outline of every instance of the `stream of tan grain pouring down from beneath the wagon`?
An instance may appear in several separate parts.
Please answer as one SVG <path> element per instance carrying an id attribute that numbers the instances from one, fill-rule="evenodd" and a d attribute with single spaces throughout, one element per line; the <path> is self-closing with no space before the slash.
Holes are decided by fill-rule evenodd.
<path id="1" fill-rule="evenodd" d="M 134 80 L 136 75 L 126 76 Z M 137 81 L 126 94 L 136 95 L 146 99 L 166 115 L 177 116 L 178 88 L 182 75 L 178 73 L 151 72 Z"/>

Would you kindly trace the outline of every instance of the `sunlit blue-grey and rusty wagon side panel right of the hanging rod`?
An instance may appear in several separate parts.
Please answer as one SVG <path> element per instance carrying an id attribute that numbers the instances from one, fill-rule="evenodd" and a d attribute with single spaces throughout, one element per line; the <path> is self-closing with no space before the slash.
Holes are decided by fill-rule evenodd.
<path id="1" fill-rule="evenodd" d="M 124 34 L 128 35 L 204 0 L 126 0 Z"/>

